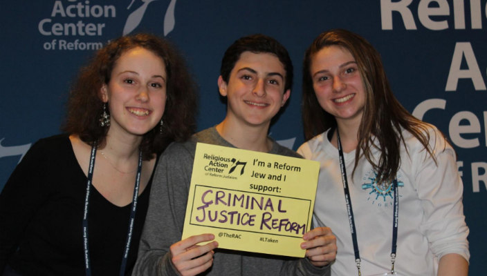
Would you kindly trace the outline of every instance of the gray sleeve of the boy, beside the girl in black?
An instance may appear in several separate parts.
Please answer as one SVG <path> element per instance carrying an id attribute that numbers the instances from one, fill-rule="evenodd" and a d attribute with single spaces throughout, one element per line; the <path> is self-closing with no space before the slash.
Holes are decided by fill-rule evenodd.
<path id="1" fill-rule="evenodd" d="M 170 145 L 158 162 L 132 275 L 178 275 L 169 247 L 181 240 L 194 152 Z"/>

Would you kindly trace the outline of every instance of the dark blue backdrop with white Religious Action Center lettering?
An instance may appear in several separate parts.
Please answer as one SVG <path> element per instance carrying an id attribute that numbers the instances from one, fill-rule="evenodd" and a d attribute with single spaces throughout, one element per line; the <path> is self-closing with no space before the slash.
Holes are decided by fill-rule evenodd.
<path id="1" fill-rule="evenodd" d="M 470 274 L 481 275 L 487 263 L 486 12 L 486 0 L 3 0 L 0 189 L 33 142 L 59 132 L 73 77 L 109 39 L 152 32 L 172 40 L 199 83 L 201 130 L 225 114 L 217 77 L 226 48 L 246 34 L 275 37 L 288 48 L 296 77 L 287 110 L 270 132 L 296 149 L 304 141 L 304 50 L 320 32 L 347 28 L 381 53 L 407 110 L 438 126 L 457 150 Z"/>

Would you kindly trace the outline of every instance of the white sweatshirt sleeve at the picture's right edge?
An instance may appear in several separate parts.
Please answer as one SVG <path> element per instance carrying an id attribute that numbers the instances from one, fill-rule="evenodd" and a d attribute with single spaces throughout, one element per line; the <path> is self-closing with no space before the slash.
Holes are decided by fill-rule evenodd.
<path id="1" fill-rule="evenodd" d="M 416 163 L 413 175 L 416 175 L 414 182 L 424 212 L 420 231 L 428 237 L 438 259 L 456 253 L 468 261 L 469 231 L 463 215 L 463 184 L 455 152 L 434 127 L 430 130 L 430 146 L 436 163 L 426 150 L 412 149 L 419 152 L 413 160 Z"/>

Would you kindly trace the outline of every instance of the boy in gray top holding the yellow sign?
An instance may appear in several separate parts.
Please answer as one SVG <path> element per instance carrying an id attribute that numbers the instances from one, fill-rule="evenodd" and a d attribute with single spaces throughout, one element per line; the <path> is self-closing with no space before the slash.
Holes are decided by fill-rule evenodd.
<path id="1" fill-rule="evenodd" d="M 133 275 L 329 275 L 336 255 L 329 228 L 304 234 L 306 258 L 220 249 L 212 234 L 181 240 L 197 142 L 300 157 L 268 137 L 292 81 L 288 52 L 273 38 L 242 37 L 226 50 L 218 79 L 226 117 L 190 141 L 170 145 L 160 157 Z M 196 245 L 202 242 L 207 243 Z"/>

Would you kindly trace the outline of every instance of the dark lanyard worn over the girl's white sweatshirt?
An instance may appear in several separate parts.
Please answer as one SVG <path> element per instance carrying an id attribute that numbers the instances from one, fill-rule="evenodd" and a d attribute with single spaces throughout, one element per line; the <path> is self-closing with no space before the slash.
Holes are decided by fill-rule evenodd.
<path id="1" fill-rule="evenodd" d="M 353 252 L 355 253 L 355 263 L 358 269 L 358 276 L 360 273 L 360 254 L 358 253 L 358 242 L 357 242 L 357 232 L 355 228 L 355 219 L 353 219 L 353 210 L 351 208 L 351 199 L 349 192 L 349 182 L 347 180 L 347 170 L 345 169 L 345 160 L 343 157 L 342 142 L 340 141 L 340 134 L 338 133 L 338 128 L 336 130 L 336 136 L 338 140 L 338 155 L 340 157 L 340 170 L 342 171 L 342 182 L 343 191 L 345 194 L 345 204 L 347 204 L 347 212 L 349 215 L 350 232 L 351 239 L 353 242 Z M 399 201 L 398 201 L 398 190 L 397 190 L 397 179 L 394 179 L 392 187 L 394 190 L 394 213 L 392 216 L 392 249 L 391 249 L 391 272 L 394 273 L 394 262 L 396 262 L 396 249 L 397 249 L 397 228 L 398 228 L 398 217 L 399 217 Z"/>

